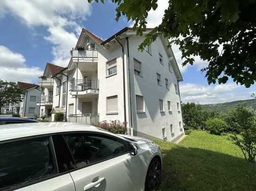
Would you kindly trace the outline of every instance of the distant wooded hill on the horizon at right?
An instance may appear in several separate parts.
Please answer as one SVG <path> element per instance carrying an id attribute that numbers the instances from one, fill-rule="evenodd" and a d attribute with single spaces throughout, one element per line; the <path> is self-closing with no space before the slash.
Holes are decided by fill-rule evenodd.
<path id="1" fill-rule="evenodd" d="M 244 103 L 247 107 L 253 107 L 256 109 L 256 99 L 247 99 L 247 100 L 239 100 L 239 101 L 232 101 L 226 103 L 218 103 L 218 104 L 206 104 L 201 105 L 203 108 L 214 110 L 218 113 L 225 113 L 228 112 L 232 107 L 237 106 L 238 104 Z"/>

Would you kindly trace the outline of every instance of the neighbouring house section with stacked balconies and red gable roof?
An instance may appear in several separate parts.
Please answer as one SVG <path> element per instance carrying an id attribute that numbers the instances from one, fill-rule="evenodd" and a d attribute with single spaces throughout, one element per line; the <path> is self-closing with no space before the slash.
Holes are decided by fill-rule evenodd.
<path id="1" fill-rule="evenodd" d="M 53 84 L 56 83 L 52 76 L 58 74 L 63 69 L 63 67 L 47 63 L 43 76 L 38 78 L 38 85 L 41 87 L 40 99 L 37 102 L 37 106 L 40 107 L 40 116 L 51 116 L 53 94 L 55 93 L 53 92 Z"/>

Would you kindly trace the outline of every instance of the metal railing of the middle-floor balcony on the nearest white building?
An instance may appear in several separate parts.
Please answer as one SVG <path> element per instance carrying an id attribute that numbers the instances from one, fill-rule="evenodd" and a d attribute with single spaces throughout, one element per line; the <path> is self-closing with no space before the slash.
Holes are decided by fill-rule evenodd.
<path id="1" fill-rule="evenodd" d="M 84 80 L 72 80 L 70 82 L 71 91 L 99 90 L 99 79 L 87 77 Z"/>

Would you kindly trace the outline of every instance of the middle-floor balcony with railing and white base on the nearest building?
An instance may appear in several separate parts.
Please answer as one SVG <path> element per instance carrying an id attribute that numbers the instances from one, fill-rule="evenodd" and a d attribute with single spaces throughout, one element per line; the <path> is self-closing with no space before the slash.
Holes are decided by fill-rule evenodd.
<path id="1" fill-rule="evenodd" d="M 99 79 L 95 77 L 87 77 L 84 80 L 72 80 L 70 88 L 72 95 L 94 95 L 99 94 Z"/>

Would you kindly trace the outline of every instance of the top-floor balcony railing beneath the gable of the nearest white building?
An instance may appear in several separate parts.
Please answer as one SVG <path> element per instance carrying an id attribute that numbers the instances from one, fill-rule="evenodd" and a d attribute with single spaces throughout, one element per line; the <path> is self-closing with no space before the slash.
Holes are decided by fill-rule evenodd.
<path id="1" fill-rule="evenodd" d="M 97 48 L 84 48 L 77 49 L 72 48 L 70 54 L 75 60 L 98 60 L 98 49 Z"/>

